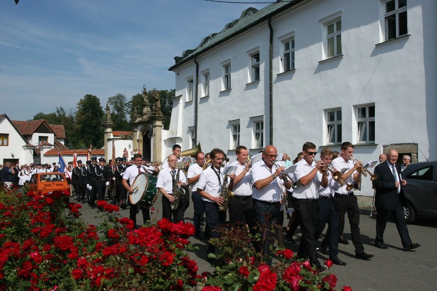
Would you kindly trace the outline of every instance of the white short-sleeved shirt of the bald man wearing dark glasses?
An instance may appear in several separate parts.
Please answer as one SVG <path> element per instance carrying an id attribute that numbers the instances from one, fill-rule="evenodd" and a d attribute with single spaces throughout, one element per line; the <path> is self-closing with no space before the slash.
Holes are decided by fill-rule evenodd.
<path id="1" fill-rule="evenodd" d="M 256 181 L 271 176 L 276 169 L 276 165 L 273 165 L 272 170 L 270 170 L 264 160 L 260 160 L 260 162 L 255 163 L 252 165 L 250 170 L 252 176 L 252 185 L 255 184 Z M 252 198 L 266 202 L 279 202 L 282 199 L 283 184 L 284 182 L 279 177 L 276 177 L 270 184 L 261 189 L 256 189 L 253 186 Z"/>

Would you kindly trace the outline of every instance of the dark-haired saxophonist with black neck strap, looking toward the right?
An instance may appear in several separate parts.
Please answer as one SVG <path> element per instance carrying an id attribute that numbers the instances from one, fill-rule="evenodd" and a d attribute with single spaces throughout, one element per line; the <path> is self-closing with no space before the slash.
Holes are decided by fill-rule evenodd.
<path id="1" fill-rule="evenodd" d="M 225 153 L 220 149 L 213 149 L 210 153 L 212 164 L 200 175 L 197 182 L 197 193 L 202 196 L 202 200 L 205 201 L 205 214 L 206 223 L 211 231 L 211 238 L 218 238 L 218 226 L 226 221 L 226 212 L 219 211 L 218 206 L 222 205 L 223 198 L 221 197 L 222 185 L 224 181 L 223 168 L 221 167 L 224 162 Z M 235 178 L 235 174 L 232 174 Z M 230 176 L 231 177 L 231 176 Z M 232 189 L 233 179 L 229 181 L 228 189 Z M 224 190 L 226 191 L 226 190 Z M 207 254 L 216 253 L 216 247 L 211 243 L 208 243 Z M 211 259 L 208 258 L 208 261 Z"/>

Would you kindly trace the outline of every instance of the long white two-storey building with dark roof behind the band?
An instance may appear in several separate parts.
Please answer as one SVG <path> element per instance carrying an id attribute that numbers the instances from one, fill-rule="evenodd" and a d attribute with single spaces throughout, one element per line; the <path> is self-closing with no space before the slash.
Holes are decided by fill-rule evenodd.
<path id="1" fill-rule="evenodd" d="M 294 158 L 311 141 L 355 145 L 367 162 L 395 147 L 437 158 L 434 0 L 276 2 L 175 57 L 165 153 L 197 141 L 230 160 L 239 144 Z M 402 155 L 400 155 L 402 158 Z M 317 155 L 317 159 L 319 156 Z M 373 195 L 363 178 L 358 193 Z"/>

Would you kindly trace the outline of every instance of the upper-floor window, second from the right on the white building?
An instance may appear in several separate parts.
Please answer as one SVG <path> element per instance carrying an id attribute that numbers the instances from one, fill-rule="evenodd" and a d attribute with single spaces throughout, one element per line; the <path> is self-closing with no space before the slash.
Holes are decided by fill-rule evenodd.
<path id="1" fill-rule="evenodd" d="M 323 35 L 323 41 L 322 41 L 322 45 L 323 45 L 323 59 L 328 59 L 328 58 L 333 58 L 333 57 L 337 57 L 337 56 L 342 56 L 343 55 L 343 47 L 342 47 L 342 13 L 343 11 L 340 10 L 338 12 L 335 12 L 329 16 L 326 16 L 322 19 L 319 20 L 319 22 L 322 23 L 322 35 Z M 337 24 L 340 23 L 340 29 L 338 29 L 339 27 L 337 26 Z M 330 25 L 333 25 L 334 31 L 332 33 L 328 33 L 328 27 Z M 330 39 L 333 39 L 333 55 L 330 55 L 329 50 L 330 50 Z M 338 52 L 339 48 L 338 48 L 338 43 L 337 41 L 340 40 L 340 52 Z"/>

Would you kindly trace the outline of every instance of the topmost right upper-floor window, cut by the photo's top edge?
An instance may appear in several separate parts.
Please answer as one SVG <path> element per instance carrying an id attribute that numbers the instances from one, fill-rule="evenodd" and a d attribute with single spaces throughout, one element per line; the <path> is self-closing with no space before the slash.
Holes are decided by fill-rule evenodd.
<path id="1" fill-rule="evenodd" d="M 399 8 L 399 2 L 404 2 L 405 1 L 405 6 Z M 395 39 L 398 37 L 402 37 L 408 34 L 408 14 L 407 14 L 407 8 L 408 8 L 408 4 L 407 4 L 408 0 L 388 0 L 388 1 L 383 1 L 382 2 L 382 6 L 383 6 L 383 11 L 384 11 L 384 20 L 383 20 L 383 24 L 384 24 L 384 40 L 388 41 L 391 39 Z M 393 2 L 394 3 L 394 10 L 387 12 L 387 4 Z M 405 21 L 406 24 L 405 26 L 403 26 L 405 33 L 401 34 L 400 28 L 401 28 L 401 21 L 402 19 L 400 18 L 400 14 L 404 14 L 405 13 Z M 394 16 L 394 35 L 393 33 L 389 33 L 389 20 L 390 18 L 392 18 Z"/>

